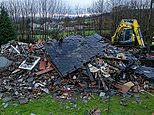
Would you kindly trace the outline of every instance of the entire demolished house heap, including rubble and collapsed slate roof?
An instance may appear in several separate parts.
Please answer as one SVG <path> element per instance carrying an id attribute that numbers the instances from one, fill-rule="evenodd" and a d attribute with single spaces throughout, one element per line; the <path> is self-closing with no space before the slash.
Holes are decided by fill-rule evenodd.
<path id="1" fill-rule="evenodd" d="M 1 47 L 0 98 L 4 103 L 28 103 L 44 92 L 61 99 L 78 94 L 86 98 L 92 93 L 152 95 L 153 80 L 154 68 L 142 66 L 131 51 L 112 46 L 98 34 L 35 44 L 11 41 Z"/>

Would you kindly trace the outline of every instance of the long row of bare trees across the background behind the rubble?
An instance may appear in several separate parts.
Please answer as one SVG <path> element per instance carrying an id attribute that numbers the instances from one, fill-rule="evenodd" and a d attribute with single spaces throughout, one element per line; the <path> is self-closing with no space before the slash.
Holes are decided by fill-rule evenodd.
<path id="1" fill-rule="evenodd" d="M 1 6 L 4 6 L 8 11 L 15 24 L 18 39 L 21 40 L 25 38 L 30 40 L 36 35 L 40 35 L 39 37 L 45 40 L 49 36 L 61 38 L 66 33 L 67 35 L 80 34 L 85 36 L 87 33 L 97 32 L 112 36 L 122 19 L 137 19 L 145 35 L 154 31 L 154 25 L 152 25 L 154 18 L 149 21 L 150 0 L 98 0 L 87 9 L 76 6 L 77 17 L 75 19 L 66 17 L 72 11 L 63 0 L 9 0 L 2 2 Z M 81 17 L 80 15 L 85 12 L 89 13 L 90 16 Z M 60 30 L 57 27 L 58 29 L 55 31 L 52 28 L 51 31 L 48 26 L 54 21 L 63 22 L 61 25 L 64 28 Z M 35 23 L 43 25 L 43 29 L 38 27 L 38 30 L 34 30 L 34 26 L 38 26 L 34 25 Z M 77 26 L 79 29 L 75 28 L 67 32 L 66 29 L 72 26 Z"/>

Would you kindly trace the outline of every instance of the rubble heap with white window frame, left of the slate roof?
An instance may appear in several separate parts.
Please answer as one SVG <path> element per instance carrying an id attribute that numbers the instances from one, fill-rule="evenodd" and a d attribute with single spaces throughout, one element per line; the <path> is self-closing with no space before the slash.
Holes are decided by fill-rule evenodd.
<path id="1" fill-rule="evenodd" d="M 58 77 L 43 42 L 32 45 L 11 41 L 2 46 L 0 58 L 0 98 L 4 102 L 19 100 L 22 104 L 43 92 L 49 93 Z"/>

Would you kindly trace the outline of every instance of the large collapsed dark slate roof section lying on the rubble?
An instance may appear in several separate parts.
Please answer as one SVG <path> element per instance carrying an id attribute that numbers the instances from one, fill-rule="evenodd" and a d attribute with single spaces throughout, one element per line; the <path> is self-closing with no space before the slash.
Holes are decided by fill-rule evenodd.
<path id="1" fill-rule="evenodd" d="M 46 43 L 45 49 L 58 71 L 62 76 L 66 76 L 103 51 L 101 39 L 102 37 L 97 34 L 86 38 L 70 36 L 62 43 L 59 41 Z"/>

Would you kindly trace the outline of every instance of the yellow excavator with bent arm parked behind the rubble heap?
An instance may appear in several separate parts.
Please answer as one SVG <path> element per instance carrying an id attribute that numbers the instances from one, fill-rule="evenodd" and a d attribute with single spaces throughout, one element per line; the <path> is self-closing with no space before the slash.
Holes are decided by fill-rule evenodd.
<path id="1" fill-rule="evenodd" d="M 144 48 L 145 44 L 143 41 L 140 25 L 136 19 L 123 19 L 116 32 L 112 36 L 112 44 L 132 46 L 139 45 L 140 48 Z"/>

